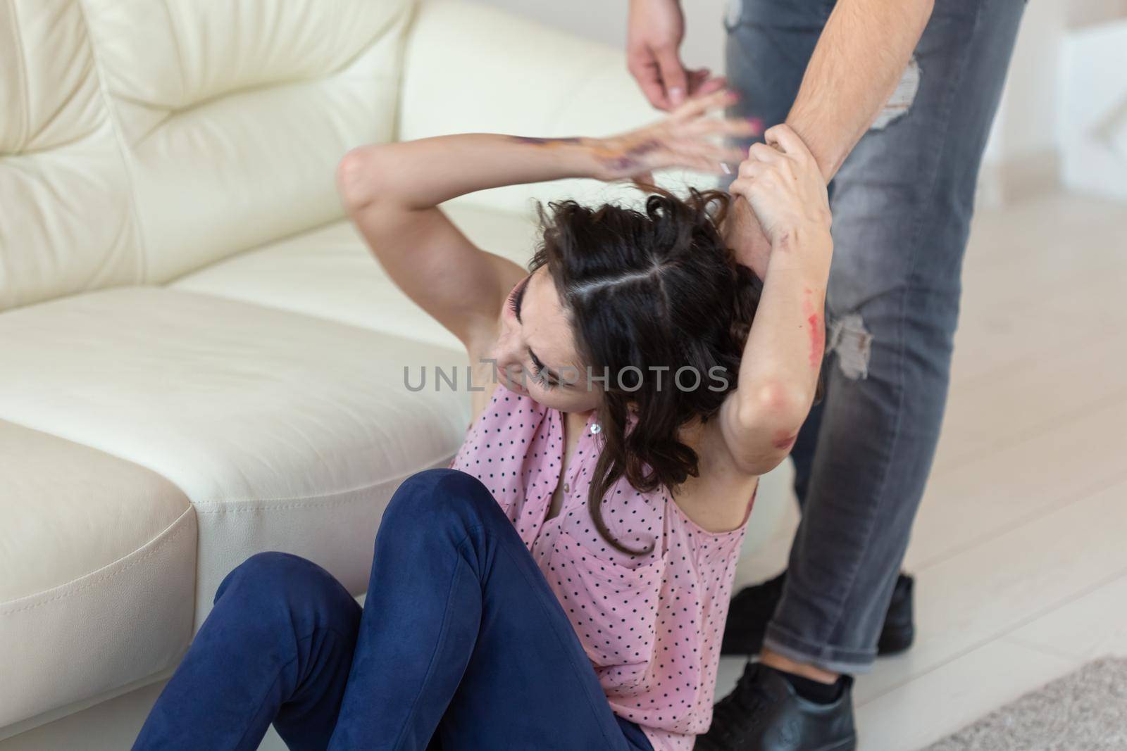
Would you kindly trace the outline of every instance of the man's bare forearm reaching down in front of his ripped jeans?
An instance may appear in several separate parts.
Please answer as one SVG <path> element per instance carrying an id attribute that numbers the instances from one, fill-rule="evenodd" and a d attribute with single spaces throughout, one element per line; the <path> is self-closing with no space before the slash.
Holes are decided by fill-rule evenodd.
<path id="1" fill-rule="evenodd" d="M 896 90 L 933 0 L 838 0 L 787 116 L 828 181 Z"/>

